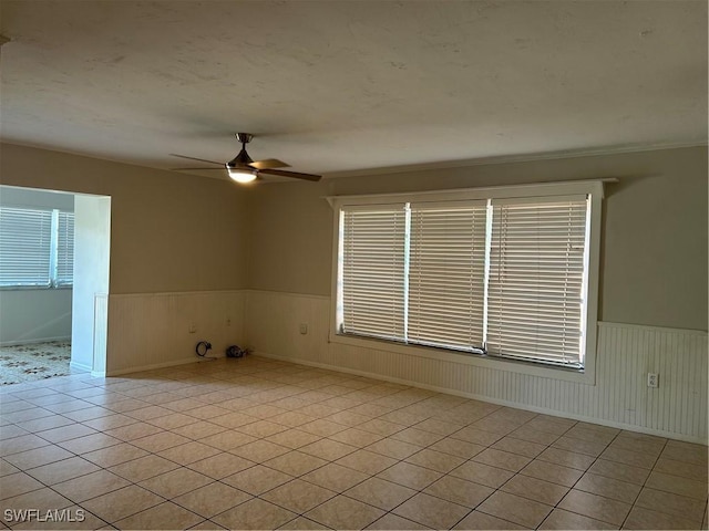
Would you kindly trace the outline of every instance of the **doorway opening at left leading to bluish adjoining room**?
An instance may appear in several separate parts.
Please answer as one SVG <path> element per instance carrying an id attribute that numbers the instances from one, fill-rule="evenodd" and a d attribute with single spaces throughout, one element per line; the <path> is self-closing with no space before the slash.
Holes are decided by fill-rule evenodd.
<path id="1" fill-rule="evenodd" d="M 0 186 L 0 385 L 105 374 L 110 222 L 110 197 Z"/>

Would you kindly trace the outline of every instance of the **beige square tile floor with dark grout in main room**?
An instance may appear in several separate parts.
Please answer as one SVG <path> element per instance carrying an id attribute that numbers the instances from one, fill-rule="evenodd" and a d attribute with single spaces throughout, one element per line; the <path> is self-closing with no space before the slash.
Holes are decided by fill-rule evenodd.
<path id="1" fill-rule="evenodd" d="M 12 529 L 707 529 L 706 446 L 255 356 L 0 413 Z"/>

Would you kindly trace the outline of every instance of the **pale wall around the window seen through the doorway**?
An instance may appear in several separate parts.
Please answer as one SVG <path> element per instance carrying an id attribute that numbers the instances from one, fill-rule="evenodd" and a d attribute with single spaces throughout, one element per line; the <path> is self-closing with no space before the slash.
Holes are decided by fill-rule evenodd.
<path id="1" fill-rule="evenodd" d="M 0 205 L 74 210 L 71 194 L 0 186 Z M 71 337 L 72 289 L 0 290 L 0 345 Z"/>

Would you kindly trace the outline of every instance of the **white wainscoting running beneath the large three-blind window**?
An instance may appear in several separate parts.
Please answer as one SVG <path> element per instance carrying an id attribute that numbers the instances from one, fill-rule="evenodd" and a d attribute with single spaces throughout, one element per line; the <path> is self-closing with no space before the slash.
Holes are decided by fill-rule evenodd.
<path id="1" fill-rule="evenodd" d="M 706 332 L 599 323 L 595 385 L 588 385 L 329 343 L 327 296 L 248 291 L 245 304 L 247 345 L 265 356 L 707 444 Z M 647 386 L 647 373 L 659 374 L 659 387 Z"/>

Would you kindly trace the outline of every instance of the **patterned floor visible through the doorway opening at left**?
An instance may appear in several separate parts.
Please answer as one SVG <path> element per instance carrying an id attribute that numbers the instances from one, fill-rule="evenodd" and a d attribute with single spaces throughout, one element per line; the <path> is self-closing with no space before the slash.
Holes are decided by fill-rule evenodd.
<path id="1" fill-rule="evenodd" d="M 0 346 L 0 385 L 71 374 L 70 361 L 71 343 L 68 341 Z"/>

